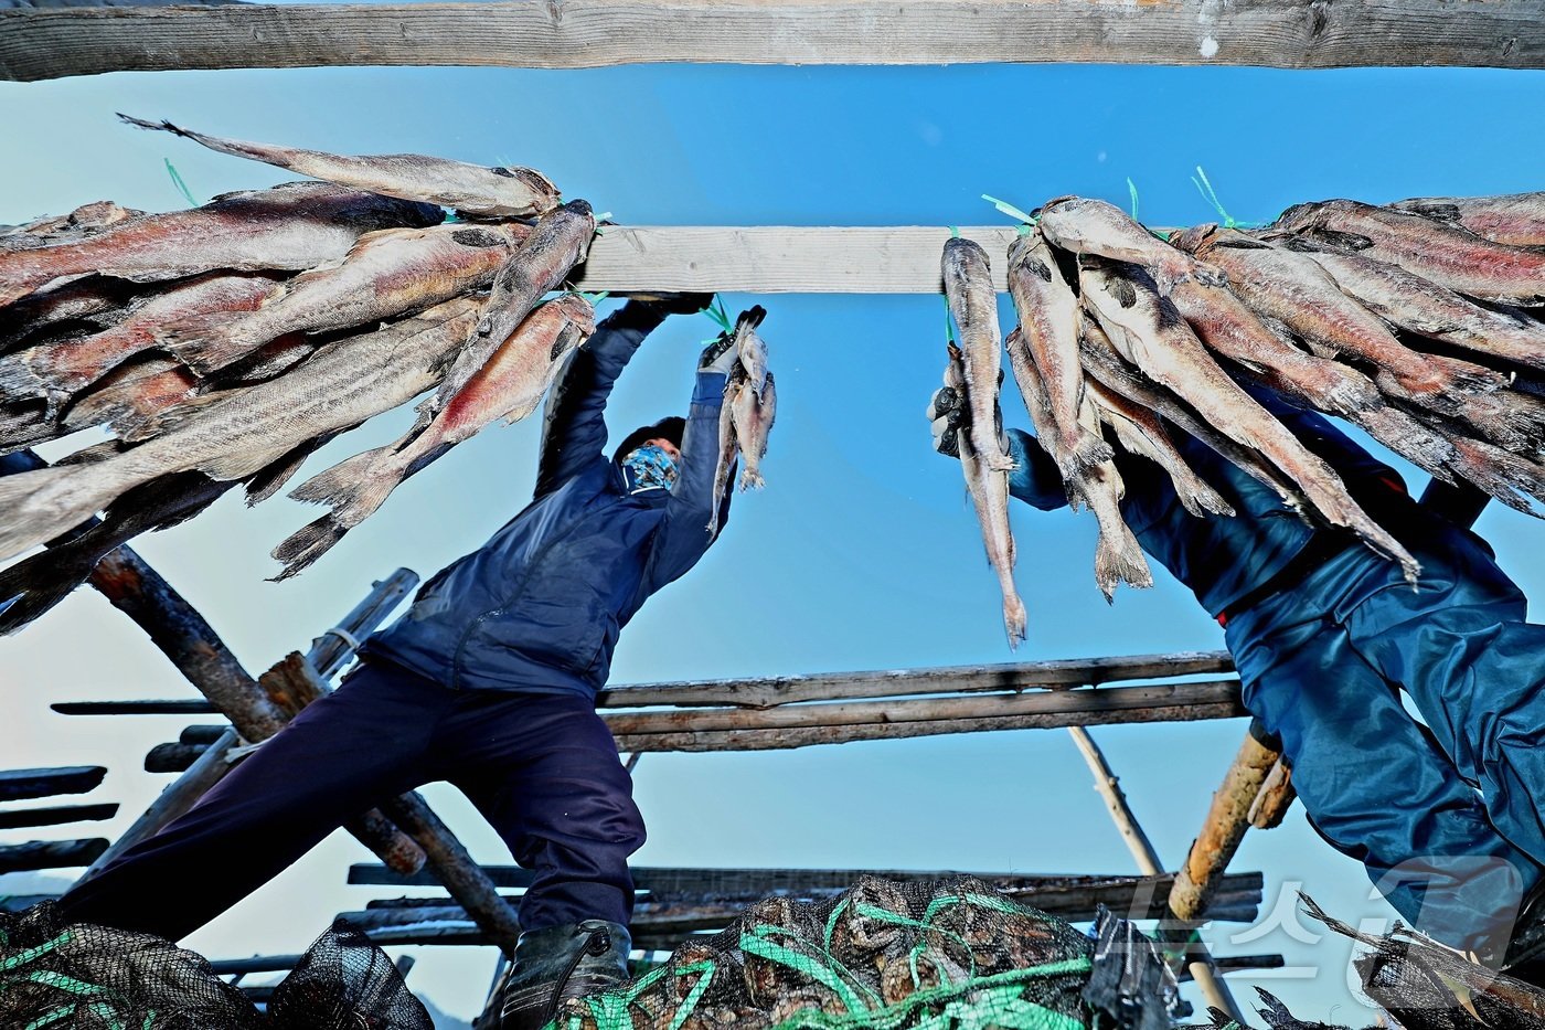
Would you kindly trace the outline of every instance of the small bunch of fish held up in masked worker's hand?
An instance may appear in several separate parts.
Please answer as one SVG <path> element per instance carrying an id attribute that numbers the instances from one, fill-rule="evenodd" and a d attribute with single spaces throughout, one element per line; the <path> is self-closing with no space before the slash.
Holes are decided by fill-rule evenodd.
<path id="1" fill-rule="evenodd" d="M 718 513 L 725 493 L 729 490 L 729 473 L 735 458 L 746 466 L 740 470 L 740 489 L 763 487 L 762 458 L 768 452 L 768 436 L 777 416 L 777 388 L 768 371 L 768 346 L 757 336 L 757 326 L 766 317 L 762 305 L 742 311 L 734 329 L 728 331 L 728 345 L 735 353 L 735 362 L 725 379 L 725 404 L 718 410 L 718 464 L 714 469 L 714 513 L 708 532 L 718 532 Z M 723 342 L 723 337 L 720 337 Z"/>

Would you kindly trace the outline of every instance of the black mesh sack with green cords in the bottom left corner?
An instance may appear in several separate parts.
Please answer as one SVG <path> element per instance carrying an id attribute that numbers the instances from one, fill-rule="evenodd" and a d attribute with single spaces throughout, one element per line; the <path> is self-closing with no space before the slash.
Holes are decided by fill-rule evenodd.
<path id="1" fill-rule="evenodd" d="M 0 912 L 0 1027 L 258 1030 L 261 1015 L 170 940 L 63 925 L 53 902 Z"/>

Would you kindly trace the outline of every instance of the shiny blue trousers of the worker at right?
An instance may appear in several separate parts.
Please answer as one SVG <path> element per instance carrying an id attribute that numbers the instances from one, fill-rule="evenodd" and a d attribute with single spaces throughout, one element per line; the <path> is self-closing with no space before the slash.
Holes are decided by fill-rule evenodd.
<path id="1" fill-rule="evenodd" d="M 1353 546 L 1225 636 L 1319 834 L 1418 929 L 1500 953 L 1545 865 L 1545 626 L 1474 537 L 1414 551 L 1420 589 Z"/>

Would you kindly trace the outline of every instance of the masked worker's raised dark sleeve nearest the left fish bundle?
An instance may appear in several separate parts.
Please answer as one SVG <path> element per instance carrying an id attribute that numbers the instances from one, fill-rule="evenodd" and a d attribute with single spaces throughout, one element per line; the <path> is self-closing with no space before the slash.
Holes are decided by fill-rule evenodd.
<path id="1" fill-rule="evenodd" d="M 569 356 L 547 397 L 536 496 L 552 493 L 606 447 L 606 401 L 638 345 L 664 315 L 626 305 L 596 326 L 584 346 Z"/>

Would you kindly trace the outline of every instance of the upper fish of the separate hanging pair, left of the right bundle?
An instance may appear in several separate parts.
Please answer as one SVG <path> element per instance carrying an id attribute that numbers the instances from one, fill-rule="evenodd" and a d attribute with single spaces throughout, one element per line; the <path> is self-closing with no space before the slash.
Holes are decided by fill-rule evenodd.
<path id="1" fill-rule="evenodd" d="M 952 237 L 944 241 L 944 297 L 961 334 L 961 370 L 972 405 L 972 453 L 995 472 L 1014 469 L 998 438 L 998 382 L 1003 368 L 1003 333 L 998 328 L 998 292 L 981 244 Z"/>

